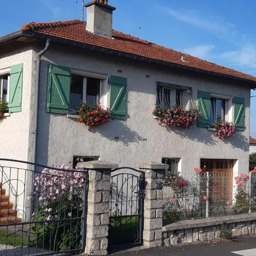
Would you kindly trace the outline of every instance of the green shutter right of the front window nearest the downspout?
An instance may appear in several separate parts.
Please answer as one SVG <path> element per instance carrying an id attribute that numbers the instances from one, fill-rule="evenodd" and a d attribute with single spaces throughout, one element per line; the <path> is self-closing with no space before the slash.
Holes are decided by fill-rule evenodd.
<path id="1" fill-rule="evenodd" d="M 110 77 L 110 109 L 113 119 L 124 120 L 127 115 L 126 86 L 126 78 Z"/>

